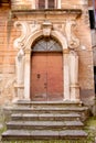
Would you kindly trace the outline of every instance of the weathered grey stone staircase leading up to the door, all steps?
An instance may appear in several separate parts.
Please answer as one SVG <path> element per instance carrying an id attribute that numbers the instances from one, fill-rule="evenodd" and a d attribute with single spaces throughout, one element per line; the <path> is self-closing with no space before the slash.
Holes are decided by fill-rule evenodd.
<path id="1" fill-rule="evenodd" d="M 7 109 L 6 109 L 7 110 Z M 88 109 L 77 102 L 19 101 L 2 140 L 85 139 L 83 130 Z"/>

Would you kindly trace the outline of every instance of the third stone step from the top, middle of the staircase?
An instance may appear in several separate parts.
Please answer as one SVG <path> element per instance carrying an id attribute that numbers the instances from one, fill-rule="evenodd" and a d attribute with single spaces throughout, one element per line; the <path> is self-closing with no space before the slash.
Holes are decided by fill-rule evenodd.
<path id="1" fill-rule="evenodd" d="M 11 118 L 12 121 L 77 121 L 79 120 L 81 116 L 78 113 L 14 113 L 11 116 Z"/>

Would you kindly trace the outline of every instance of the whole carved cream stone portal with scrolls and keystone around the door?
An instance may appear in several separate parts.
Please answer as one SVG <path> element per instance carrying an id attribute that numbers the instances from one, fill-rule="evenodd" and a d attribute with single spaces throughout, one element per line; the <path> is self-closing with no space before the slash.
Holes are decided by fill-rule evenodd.
<path id="1" fill-rule="evenodd" d="M 44 21 L 42 25 L 26 22 L 15 22 L 14 25 L 21 29 L 22 34 L 14 41 L 14 47 L 19 51 L 15 57 L 17 65 L 17 99 L 30 100 L 30 62 L 31 45 L 39 36 L 52 36 L 56 38 L 63 51 L 64 70 L 64 98 L 63 100 L 79 101 L 78 86 L 78 56 L 74 48 L 79 46 L 78 38 L 72 32 L 75 21 L 65 22 L 65 35 L 58 30 L 52 29 L 52 23 Z M 54 28 L 54 26 L 53 26 Z"/>

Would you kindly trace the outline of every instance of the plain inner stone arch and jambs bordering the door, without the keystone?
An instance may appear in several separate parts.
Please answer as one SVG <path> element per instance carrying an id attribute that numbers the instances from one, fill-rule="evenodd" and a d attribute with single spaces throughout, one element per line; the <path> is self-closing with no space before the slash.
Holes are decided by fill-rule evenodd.
<path id="1" fill-rule="evenodd" d="M 41 36 L 45 36 L 45 33 L 43 30 L 36 31 L 34 33 L 32 33 L 28 38 L 26 38 L 26 50 L 25 52 L 25 70 L 24 70 L 24 98 L 26 100 L 31 100 L 30 99 L 30 72 L 31 72 L 31 67 L 30 67 L 30 62 L 31 62 L 31 45 L 34 43 L 34 41 Z M 68 69 L 68 47 L 67 47 L 67 42 L 66 38 L 62 35 L 62 33 L 60 33 L 58 31 L 51 31 L 51 36 L 53 38 L 56 38 L 63 50 L 63 63 L 65 61 L 65 64 L 63 65 L 63 69 L 64 69 L 64 79 L 63 81 L 65 84 L 63 84 L 63 100 L 70 100 L 70 69 Z M 28 84 L 26 84 L 28 82 Z"/>

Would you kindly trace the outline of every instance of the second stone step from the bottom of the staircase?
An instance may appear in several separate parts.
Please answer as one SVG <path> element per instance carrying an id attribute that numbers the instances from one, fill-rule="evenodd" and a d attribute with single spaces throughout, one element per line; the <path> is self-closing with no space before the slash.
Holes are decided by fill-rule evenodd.
<path id="1" fill-rule="evenodd" d="M 7 123 L 7 128 L 12 130 L 75 130 L 83 127 L 81 121 L 10 121 Z"/>

